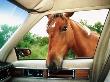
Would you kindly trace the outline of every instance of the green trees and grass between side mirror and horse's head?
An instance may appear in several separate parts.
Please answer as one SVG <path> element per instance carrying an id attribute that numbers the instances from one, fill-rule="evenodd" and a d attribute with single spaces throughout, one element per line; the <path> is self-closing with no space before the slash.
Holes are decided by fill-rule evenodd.
<path id="1" fill-rule="evenodd" d="M 32 33 L 27 33 L 18 43 L 19 48 L 29 48 L 32 54 L 20 59 L 46 59 L 48 49 L 48 37 L 39 37 Z"/>

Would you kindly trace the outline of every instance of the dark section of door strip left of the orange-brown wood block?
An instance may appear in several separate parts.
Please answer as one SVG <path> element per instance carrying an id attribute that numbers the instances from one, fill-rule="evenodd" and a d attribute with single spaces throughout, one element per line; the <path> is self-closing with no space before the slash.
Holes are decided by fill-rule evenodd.
<path id="1" fill-rule="evenodd" d="M 15 68 L 13 77 L 33 77 L 33 78 L 66 78 L 73 79 L 73 70 L 49 71 L 48 69 L 22 69 Z"/>

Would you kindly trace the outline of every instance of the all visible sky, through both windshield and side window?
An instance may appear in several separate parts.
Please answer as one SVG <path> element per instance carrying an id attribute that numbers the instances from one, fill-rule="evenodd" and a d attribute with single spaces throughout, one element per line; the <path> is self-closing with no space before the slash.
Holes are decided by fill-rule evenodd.
<path id="1" fill-rule="evenodd" d="M 71 17 L 74 21 L 80 22 L 80 20 L 86 20 L 88 24 L 94 25 L 96 22 L 101 22 L 104 24 L 108 9 L 102 10 L 91 10 L 91 11 L 80 11 L 75 12 Z M 20 25 L 24 22 L 28 13 L 17 6 L 11 4 L 7 0 L 0 0 L 0 25 Z M 43 17 L 31 30 L 38 36 L 48 36 L 46 32 L 47 17 Z"/>

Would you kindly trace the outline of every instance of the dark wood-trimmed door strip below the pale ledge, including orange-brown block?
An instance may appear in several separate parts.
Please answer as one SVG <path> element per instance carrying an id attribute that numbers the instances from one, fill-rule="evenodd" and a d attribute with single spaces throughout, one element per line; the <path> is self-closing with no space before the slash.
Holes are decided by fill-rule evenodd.
<path id="1" fill-rule="evenodd" d="M 48 69 L 28 69 L 28 68 L 15 68 L 12 77 L 28 77 L 36 79 L 89 79 L 89 69 L 75 69 L 75 70 L 57 70 L 49 71 Z"/>

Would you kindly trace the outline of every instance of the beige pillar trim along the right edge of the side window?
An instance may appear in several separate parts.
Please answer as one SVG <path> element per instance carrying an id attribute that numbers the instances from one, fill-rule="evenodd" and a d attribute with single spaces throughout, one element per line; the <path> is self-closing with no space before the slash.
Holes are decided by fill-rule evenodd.
<path id="1" fill-rule="evenodd" d="M 107 53 L 109 46 L 109 39 L 110 39 L 110 11 L 107 16 L 104 29 L 102 31 L 99 44 L 96 50 L 96 54 L 94 57 L 92 82 L 99 82 L 98 81 L 99 78 L 103 77 L 101 71 L 103 70 L 103 66 L 105 65 L 104 61 L 106 61 L 106 57 L 110 55 L 110 53 Z"/>

